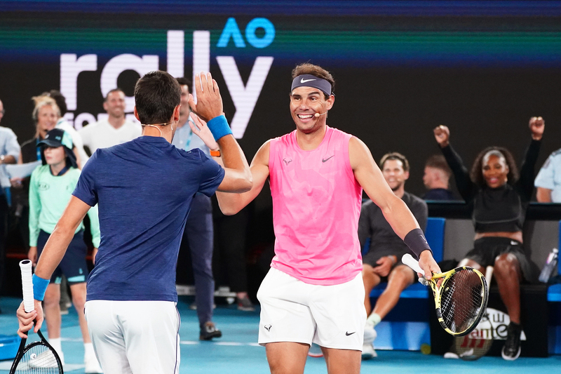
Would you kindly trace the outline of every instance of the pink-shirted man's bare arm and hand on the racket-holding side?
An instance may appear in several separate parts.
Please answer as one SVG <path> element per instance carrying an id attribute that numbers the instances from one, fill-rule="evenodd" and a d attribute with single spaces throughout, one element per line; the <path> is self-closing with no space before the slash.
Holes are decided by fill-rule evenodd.
<path id="1" fill-rule="evenodd" d="M 393 231 L 401 239 L 405 239 L 405 236 L 413 229 L 419 229 L 419 223 L 407 205 L 393 194 L 386 183 L 384 175 L 372 158 L 370 149 L 358 138 L 353 137 L 349 141 L 349 159 L 356 180 L 370 199 L 380 207 Z M 419 265 L 424 270 L 427 279 L 431 279 L 431 272 L 440 272 L 431 251 L 421 252 Z"/>

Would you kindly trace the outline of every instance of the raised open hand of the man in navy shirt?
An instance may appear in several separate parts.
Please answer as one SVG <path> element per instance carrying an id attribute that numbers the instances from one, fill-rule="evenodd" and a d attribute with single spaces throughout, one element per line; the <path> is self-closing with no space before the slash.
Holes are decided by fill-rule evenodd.
<path id="1" fill-rule="evenodd" d="M 224 114 L 222 96 L 220 96 L 218 84 L 212 79 L 210 73 L 205 74 L 201 72 L 201 74 L 196 74 L 193 85 L 197 95 L 197 102 L 195 104 L 193 95 L 189 95 L 189 107 L 191 107 L 194 113 L 207 122 Z"/>

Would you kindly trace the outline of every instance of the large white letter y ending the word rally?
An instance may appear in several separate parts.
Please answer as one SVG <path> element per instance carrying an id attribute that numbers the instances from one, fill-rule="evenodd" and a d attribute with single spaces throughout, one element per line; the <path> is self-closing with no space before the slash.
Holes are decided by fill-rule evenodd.
<path id="1" fill-rule="evenodd" d="M 222 76 L 224 76 L 224 81 L 226 81 L 226 86 L 232 101 L 234 101 L 234 106 L 236 107 L 236 114 L 231 121 L 232 133 L 234 133 L 234 138 L 241 139 L 245 133 L 245 128 L 248 127 L 248 123 L 251 118 L 263 84 L 267 74 L 269 74 L 269 69 L 273 64 L 272 57 L 258 57 L 255 60 L 255 64 L 251 69 L 250 77 L 248 79 L 248 84 L 244 87 L 243 81 L 236 66 L 236 61 L 232 56 L 217 56 L 216 58 Z"/>

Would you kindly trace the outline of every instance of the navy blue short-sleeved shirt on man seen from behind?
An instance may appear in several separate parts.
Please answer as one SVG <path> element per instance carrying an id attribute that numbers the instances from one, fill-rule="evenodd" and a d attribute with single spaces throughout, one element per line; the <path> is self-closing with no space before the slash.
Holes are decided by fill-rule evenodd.
<path id="1" fill-rule="evenodd" d="M 215 193 L 224 169 L 200 149 L 142 136 L 97 149 L 73 195 L 98 204 L 101 243 L 86 300 L 177 301 L 177 253 L 196 192 Z"/>

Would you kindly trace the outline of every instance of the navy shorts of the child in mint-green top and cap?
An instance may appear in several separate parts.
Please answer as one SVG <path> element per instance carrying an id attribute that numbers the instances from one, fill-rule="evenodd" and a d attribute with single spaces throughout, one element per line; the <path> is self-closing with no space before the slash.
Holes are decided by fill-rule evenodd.
<path id="1" fill-rule="evenodd" d="M 50 236 L 48 232 L 39 231 L 37 238 L 37 258 L 41 256 L 43 248 Z M 68 284 L 83 283 L 88 279 L 88 264 L 86 263 L 86 254 L 88 247 L 83 241 L 83 229 L 74 234 L 72 241 L 68 245 L 65 257 L 62 258 L 60 264 L 50 277 L 50 283 L 59 284 L 62 281 L 62 274 L 65 274 Z"/>

